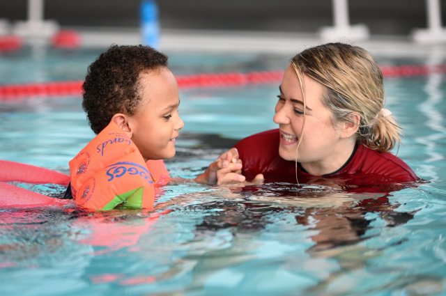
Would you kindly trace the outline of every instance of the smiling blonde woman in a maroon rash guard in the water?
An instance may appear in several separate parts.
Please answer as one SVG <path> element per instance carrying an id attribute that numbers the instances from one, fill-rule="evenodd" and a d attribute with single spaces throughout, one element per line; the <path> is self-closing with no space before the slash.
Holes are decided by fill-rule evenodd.
<path id="1" fill-rule="evenodd" d="M 232 150 L 246 180 L 378 185 L 419 179 L 389 152 L 401 128 L 383 108 L 383 74 L 364 49 L 342 43 L 306 49 L 291 60 L 279 92 L 279 129 L 247 137 L 236 144 L 238 153 Z"/>

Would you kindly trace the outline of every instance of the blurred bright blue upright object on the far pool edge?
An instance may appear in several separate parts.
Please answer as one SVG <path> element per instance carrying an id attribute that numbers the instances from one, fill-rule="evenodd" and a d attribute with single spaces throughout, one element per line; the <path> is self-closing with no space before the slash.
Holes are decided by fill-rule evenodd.
<path id="1" fill-rule="evenodd" d="M 141 1 L 141 37 L 142 44 L 158 48 L 160 42 L 160 24 L 155 0 Z"/>

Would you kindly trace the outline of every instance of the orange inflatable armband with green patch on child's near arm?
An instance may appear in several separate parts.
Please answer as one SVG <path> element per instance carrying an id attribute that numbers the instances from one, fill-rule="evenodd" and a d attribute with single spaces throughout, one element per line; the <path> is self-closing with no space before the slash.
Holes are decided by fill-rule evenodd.
<path id="1" fill-rule="evenodd" d="M 113 122 L 70 161 L 70 178 L 72 196 L 82 208 L 153 210 L 152 175 L 132 140 Z"/>

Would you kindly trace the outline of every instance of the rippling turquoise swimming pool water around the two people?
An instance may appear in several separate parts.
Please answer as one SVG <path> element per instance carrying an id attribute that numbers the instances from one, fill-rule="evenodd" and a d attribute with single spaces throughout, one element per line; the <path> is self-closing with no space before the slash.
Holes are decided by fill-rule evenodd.
<path id="1" fill-rule="evenodd" d="M 0 55 L 1 84 L 82 79 L 99 50 Z M 289 56 L 169 53 L 175 74 L 281 70 Z M 381 65 L 424 64 L 376 57 Z M 436 63 L 445 63 L 444 60 Z M 387 78 L 420 187 L 346 194 L 323 186 L 164 187 L 154 213 L 0 210 L 1 295 L 445 295 L 446 82 Z M 277 84 L 180 91 L 173 176 L 274 128 Z M 68 173 L 93 132 L 79 97 L 0 102 L 0 159 Z M 395 150 L 396 152 L 396 150 Z M 60 196 L 53 185 L 21 185 Z M 233 193 L 237 194 L 233 194 Z"/>

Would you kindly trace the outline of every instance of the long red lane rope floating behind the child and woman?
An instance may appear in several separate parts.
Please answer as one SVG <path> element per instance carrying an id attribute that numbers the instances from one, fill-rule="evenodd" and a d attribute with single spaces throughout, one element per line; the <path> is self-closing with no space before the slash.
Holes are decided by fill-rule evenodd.
<path id="1" fill-rule="evenodd" d="M 446 73 L 444 65 L 398 65 L 382 66 L 385 77 L 413 77 L 429 75 L 433 73 Z M 217 73 L 178 75 L 177 81 L 180 88 L 201 87 L 231 87 L 245 86 L 248 84 L 272 84 L 279 83 L 283 77 L 283 71 L 259 71 L 247 73 Z M 82 95 L 83 81 L 59 81 L 35 84 L 9 84 L 0 86 L 0 100 L 16 100 L 17 98 L 30 98 L 37 96 L 66 96 Z"/>

